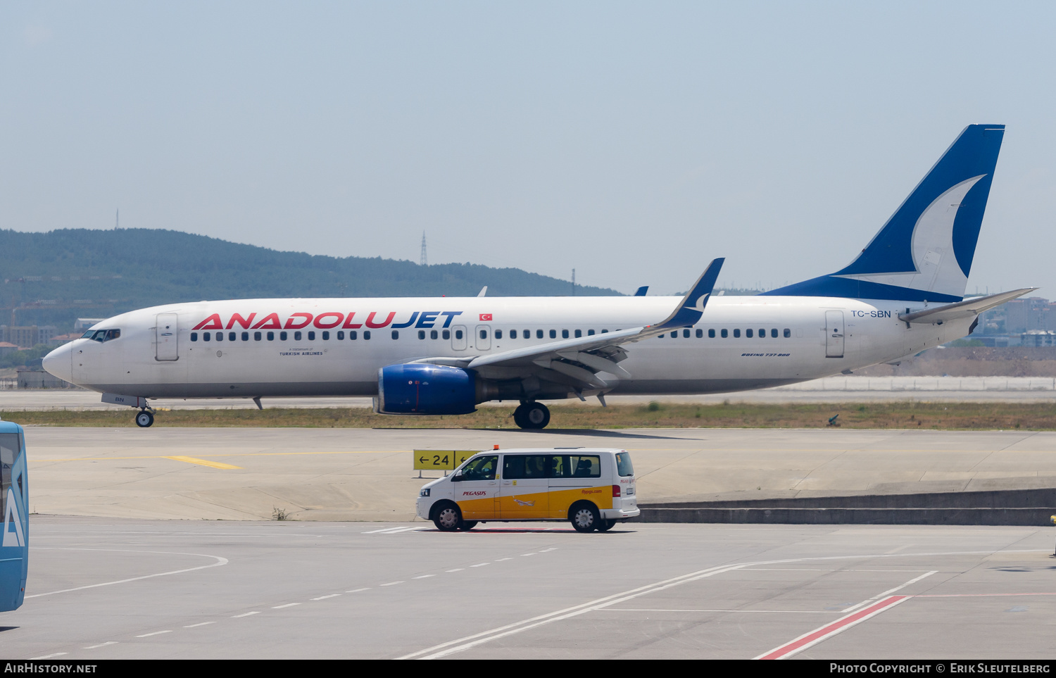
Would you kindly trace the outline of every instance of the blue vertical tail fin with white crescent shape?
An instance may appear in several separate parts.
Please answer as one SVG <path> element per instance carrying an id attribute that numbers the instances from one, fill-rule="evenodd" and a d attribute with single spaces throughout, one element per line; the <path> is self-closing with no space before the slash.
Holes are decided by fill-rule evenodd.
<path id="1" fill-rule="evenodd" d="M 766 295 L 961 301 L 1003 125 L 964 128 L 849 266 Z"/>

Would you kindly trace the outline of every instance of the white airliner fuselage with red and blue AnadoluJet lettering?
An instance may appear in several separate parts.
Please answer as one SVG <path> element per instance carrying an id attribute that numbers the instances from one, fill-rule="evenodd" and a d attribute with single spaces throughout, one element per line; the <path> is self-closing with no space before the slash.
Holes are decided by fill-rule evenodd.
<path id="1" fill-rule="evenodd" d="M 98 323 L 95 328 L 119 329 L 120 336 L 73 341 L 50 354 L 44 366 L 88 389 L 148 398 L 367 396 L 377 394 L 384 365 L 540 345 L 565 333 L 628 329 L 658 322 L 679 301 L 482 297 L 169 304 Z M 895 360 L 968 333 L 970 319 L 909 326 L 898 319 L 907 308 L 921 307 L 819 297 L 713 297 L 700 321 L 677 337 L 627 344 L 620 366 L 630 378 L 606 376 L 611 388 L 605 392 L 760 389 Z"/>

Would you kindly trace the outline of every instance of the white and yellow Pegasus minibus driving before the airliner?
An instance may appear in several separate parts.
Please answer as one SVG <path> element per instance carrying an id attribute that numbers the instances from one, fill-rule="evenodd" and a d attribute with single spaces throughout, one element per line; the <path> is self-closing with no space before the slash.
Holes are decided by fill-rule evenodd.
<path id="1" fill-rule="evenodd" d="M 640 513 L 626 450 L 489 450 L 422 486 L 418 516 L 438 529 L 488 521 L 570 521 L 581 532 L 610 529 Z"/>

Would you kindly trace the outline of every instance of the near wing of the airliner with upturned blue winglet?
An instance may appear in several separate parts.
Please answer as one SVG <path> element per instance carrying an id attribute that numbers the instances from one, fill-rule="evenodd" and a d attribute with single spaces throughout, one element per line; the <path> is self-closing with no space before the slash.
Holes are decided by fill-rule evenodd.
<path id="1" fill-rule="evenodd" d="M 622 347 L 624 344 L 656 337 L 675 328 L 687 327 L 700 320 L 724 261 L 722 258 L 712 261 L 671 315 L 653 325 L 618 329 L 576 339 L 562 339 L 483 356 L 421 358 L 414 362 L 446 364 L 470 370 L 487 368 L 522 368 L 531 372 L 542 370 L 563 375 L 566 378 L 559 379 L 559 381 L 568 382 L 570 379 L 579 390 L 584 388 L 605 389 L 608 384 L 598 377 L 597 373 L 607 372 L 623 378 L 630 376 L 618 364 L 627 357 Z"/>

